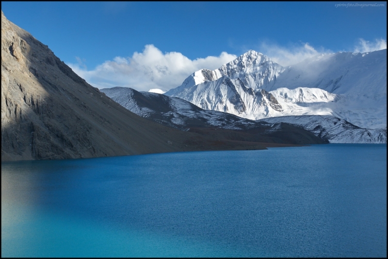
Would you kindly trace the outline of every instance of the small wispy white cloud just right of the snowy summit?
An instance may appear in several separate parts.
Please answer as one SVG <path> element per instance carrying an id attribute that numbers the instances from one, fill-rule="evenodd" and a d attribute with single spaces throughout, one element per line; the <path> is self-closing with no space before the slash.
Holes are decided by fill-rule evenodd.
<path id="1" fill-rule="evenodd" d="M 294 45 L 291 47 L 282 47 L 275 44 L 261 43 L 259 46 L 259 52 L 271 58 L 273 61 L 282 66 L 289 66 L 307 58 L 311 58 L 320 54 L 329 53 L 329 50 L 316 50 L 308 43 Z"/>

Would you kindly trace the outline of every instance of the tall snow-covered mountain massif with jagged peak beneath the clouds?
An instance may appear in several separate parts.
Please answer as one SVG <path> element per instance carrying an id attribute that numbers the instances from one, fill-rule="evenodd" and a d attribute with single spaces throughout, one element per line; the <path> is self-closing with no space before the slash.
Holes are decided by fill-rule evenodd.
<path id="1" fill-rule="evenodd" d="M 387 126 L 387 50 L 338 52 L 288 67 L 248 51 L 202 69 L 166 95 L 249 119 L 332 115 L 361 128 Z"/>

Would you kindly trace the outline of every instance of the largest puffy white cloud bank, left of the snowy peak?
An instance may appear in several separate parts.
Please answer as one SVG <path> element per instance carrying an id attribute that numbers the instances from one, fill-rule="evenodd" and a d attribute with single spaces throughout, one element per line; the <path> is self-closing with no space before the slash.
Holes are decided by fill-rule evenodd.
<path id="1" fill-rule="evenodd" d="M 68 65 L 89 84 L 99 89 L 115 86 L 130 87 L 138 91 L 178 87 L 187 76 L 199 69 L 214 70 L 236 59 L 236 55 L 222 52 L 219 57 L 209 56 L 190 60 L 179 52 L 162 53 L 153 45 L 131 58 L 115 57 L 88 71 L 81 62 Z M 80 61 L 80 59 L 77 59 Z"/>

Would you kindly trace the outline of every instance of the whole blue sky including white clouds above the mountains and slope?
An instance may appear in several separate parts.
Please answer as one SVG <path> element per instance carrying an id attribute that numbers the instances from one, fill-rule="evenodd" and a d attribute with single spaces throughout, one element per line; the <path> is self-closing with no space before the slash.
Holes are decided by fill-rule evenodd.
<path id="1" fill-rule="evenodd" d="M 249 49 L 285 66 L 386 48 L 386 2 L 363 3 L 3 1 L 1 9 L 93 86 L 148 91 Z"/>

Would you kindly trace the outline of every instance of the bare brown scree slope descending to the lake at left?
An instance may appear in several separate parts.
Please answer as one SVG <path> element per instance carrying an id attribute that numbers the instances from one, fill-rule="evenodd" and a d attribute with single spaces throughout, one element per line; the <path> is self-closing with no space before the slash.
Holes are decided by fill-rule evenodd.
<path id="1" fill-rule="evenodd" d="M 135 115 L 86 83 L 1 12 L 1 161 L 265 146 L 215 140 Z"/>

